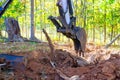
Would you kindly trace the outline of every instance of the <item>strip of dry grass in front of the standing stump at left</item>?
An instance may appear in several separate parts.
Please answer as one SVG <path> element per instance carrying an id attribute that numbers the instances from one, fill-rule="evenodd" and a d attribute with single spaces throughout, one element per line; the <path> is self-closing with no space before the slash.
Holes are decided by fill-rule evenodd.
<path id="1" fill-rule="evenodd" d="M 0 53 L 4 52 L 26 52 L 38 49 L 48 50 L 46 43 L 33 43 L 33 42 L 15 42 L 15 43 L 0 43 Z"/>

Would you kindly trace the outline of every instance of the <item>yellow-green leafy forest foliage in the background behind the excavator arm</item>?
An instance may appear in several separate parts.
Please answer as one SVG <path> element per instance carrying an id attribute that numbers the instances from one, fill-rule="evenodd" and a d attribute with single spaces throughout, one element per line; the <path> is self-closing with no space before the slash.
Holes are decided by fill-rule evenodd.
<path id="1" fill-rule="evenodd" d="M 6 17 L 14 17 L 19 20 L 20 26 L 28 29 L 30 27 L 30 0 L 13 1 L 0 19 L 0 23 L 3 23 Z M 47 18 L 49 15 L 59 15 L 56 7 L 57 0 L 34 1 L 36 31 L 47 28 L 54 34 L 56 31 L 54 25 Z M 120 34 L 120 0 L 73 0 L 73 2 L 77 25 L 86 29 L 89 40 L 96 38 L 96 41 L 103 42 L 105 38 L 103 36 L 106 36 L 106 40 L 109 41 L 110 37 Z"/>

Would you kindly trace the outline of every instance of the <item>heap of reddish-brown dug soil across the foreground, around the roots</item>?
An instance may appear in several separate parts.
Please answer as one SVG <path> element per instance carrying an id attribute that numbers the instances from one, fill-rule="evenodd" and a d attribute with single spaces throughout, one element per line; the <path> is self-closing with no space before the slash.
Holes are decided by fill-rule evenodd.
<path id="1" fill-rule="evenodd" d="M 21 55 L 25 55 L 22 53 Z M 50 61 L 43 50 L 28 52 L 28 64 L 25 71 L 16 70 L 18 79 L 32 80 L 65 80 L 51 66 Z M 69 52 L 56 50 L 52 59 L 56 69 L 65 76 L 79 76 L 80 80 L 119 80 L 120 79 L 120 55 L 112 54 L 110 59 L 96 64 L 75 67 L 74 60 Z M 77 79 L 76 79 L 77 80 Z"/>

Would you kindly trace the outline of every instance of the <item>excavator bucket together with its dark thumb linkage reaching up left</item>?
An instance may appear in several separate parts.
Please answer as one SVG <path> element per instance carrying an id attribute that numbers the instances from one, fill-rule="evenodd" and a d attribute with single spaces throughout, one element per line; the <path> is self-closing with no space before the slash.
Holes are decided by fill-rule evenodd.
<path id="1" fill-rule="evenodd" d="M 69 32 L 66 32 L 66 28 L 61 26 L 57 21 L 56 17 L 49 16 L 51 22 L 55 25 L 57 32 L 62 33 L 66 37 L 73 40 L 74 49 L 79 56 L 84 56 L 87 36 L 84 28 L 73 27 L 73 29 L 69 29 Z"/>

